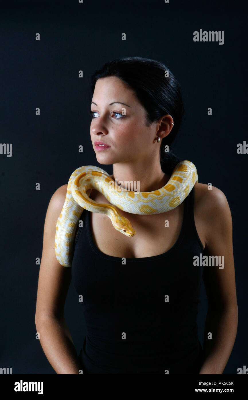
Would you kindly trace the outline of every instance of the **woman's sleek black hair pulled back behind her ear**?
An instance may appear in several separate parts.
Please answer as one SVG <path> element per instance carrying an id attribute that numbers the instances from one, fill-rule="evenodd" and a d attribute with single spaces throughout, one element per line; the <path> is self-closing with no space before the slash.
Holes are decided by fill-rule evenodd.
<path id="1" fill-rule="evenodd" d="M 165 77 L 165 71 L 168 71 L 168 77 Z M 148 126 L 152 122 L 157 122 L 166 114 L 172 116 L 174 126 L 169 135 L 161 140 L 160 145 L 161 169 L 166 174 L 171 175 L 180 160 L 173 153 L 170 145 L 179 131 L 184 114 L 180 86 L 175 76 L 159 61 L 143 57 L 116 58 L 104 64 L 91 76 L 92 95 L 96 81 L 108 76 L 116 76 L 122 79 L 134 90 L 138 100 L 146 110 Z M 169 147 L 169 151 L 165 151 L 165 146 Z"/>

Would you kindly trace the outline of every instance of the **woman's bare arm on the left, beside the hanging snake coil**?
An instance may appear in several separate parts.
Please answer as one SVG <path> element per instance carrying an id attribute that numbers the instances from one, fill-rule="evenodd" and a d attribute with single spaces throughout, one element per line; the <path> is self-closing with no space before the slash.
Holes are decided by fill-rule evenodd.
<path id="1" fill-rule="evenodd" d="M 43 351 L 57 374 L 79 374 L 82 366 L 77 358 L 64 318 L 65 299 L 71 282 L 71 268 L 59 264 L 54 250 L 55 228 L 65 202 L 66 191 L 67 185 L 56 190 L 47 208 L 35 326 L 40 334 Z"/>

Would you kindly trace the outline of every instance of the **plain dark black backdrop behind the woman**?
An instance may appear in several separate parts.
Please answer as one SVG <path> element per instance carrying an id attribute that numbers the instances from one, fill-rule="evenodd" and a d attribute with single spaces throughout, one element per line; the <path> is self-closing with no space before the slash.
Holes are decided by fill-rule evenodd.
<path id="1" fill-rule="evenodd" d="M 237 154 L 237 144 L 248 142 L 245 7 L 238 1 L 0 3 L 0 142 L 13 145 L 12 157 L 0 154 L 2 368 L 55 374 L 35 339 L 35 260 L 41 259 L 45 214 L 55 190 L 82 165 L 112 174 L 111 165 L 97 163 L 91 144 L 89 78 L 121 56 L 161 61 L 181 84 L 185 118 L 173 148 L 195 164 L 199 182 L 224 192 L 232 213 L 239 321 L 223 373 L 248 367 L 248 154 Z M 193 42 L 200 29 L 224 31 L 224 44 Z M 77 352 L 85 335 L 79 308 L 71 285 L 65 318 Z M 201 343 L 206 312 L 202 284 Z"/>

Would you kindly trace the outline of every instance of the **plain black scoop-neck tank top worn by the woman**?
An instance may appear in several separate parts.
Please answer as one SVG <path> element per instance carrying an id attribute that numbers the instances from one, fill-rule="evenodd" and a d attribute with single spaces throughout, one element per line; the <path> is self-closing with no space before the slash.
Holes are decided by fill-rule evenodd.
<path id="1" fill-rule="evenodd" d="M 83 296 L 84 374 L 199 373 L 196 319 L 203 267 L 194 266 L 193 257 L 203 245 L 195 227 L 194 188 L 184 203 L 175 244 L 157 256 L 126 258 L 126 264 L 96 247 L 90 212 L 83 210 L 72 282 Z"/>

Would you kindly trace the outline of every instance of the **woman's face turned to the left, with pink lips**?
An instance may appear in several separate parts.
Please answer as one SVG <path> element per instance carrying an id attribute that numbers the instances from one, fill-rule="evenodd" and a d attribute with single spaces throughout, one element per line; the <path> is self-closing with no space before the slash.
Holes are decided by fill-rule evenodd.
<path id="1" fill-rule="evenodd" d="M 125 82 L 115 76 L 99 78 L 92 102 L 91 140 L 99 164 L 136 163 L 154 156 L 155 124 L 146 126 L 146 110 Z M 96 141 L 110 147 L 97 147 Z"/>

